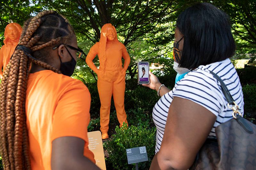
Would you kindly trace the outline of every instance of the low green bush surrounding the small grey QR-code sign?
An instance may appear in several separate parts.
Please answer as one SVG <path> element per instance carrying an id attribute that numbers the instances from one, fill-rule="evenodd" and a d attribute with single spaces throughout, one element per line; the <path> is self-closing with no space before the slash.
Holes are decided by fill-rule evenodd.
<path id="1" fill-rule="evenodd" d="M 148 161 L 140 162 L 139 169 L 149 169 L 155 154 L 155 144 L 155 128 L 146 129 L 135 126 L 119 128 L 116 126 L 116 135 L 113 135 L 109 141 L 103 144 L 109 153 L 106 164 L 112 164 L 114 169 L 135 169 L 135 164 L 128 164 L 125 151 L 128 148 L 146 146 Z"/>

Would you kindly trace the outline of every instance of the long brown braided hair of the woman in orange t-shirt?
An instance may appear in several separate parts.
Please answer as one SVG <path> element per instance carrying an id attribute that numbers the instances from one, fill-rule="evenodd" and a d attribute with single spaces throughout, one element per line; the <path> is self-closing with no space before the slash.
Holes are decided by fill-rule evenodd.
<path id="1" fill-rule="evenodd" d="M 26 126 L 26 90 L 30 63 L 61 73 L 49 62 L 49 50 L 69 43 L 75 33 L 67 19 L 56 11 L 43 11 L 24 23 L 19 45 L 30 48 L 32 59 L 16 49 L 0 86 L 0 154 L 6 170 L 31 169 Z"/>

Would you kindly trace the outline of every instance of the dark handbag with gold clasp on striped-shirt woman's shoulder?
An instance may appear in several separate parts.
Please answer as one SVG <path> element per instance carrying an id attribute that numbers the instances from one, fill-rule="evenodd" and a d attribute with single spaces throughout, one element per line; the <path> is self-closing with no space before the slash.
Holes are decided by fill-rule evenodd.
<path id="1" fill-rule="evenodd" d="M 215 73 L 233 118 L 215 128 L 216 138 L 207 139 L 190 170 L 256 170 L 256 125 L 244 119 L 227 86 Z"/>

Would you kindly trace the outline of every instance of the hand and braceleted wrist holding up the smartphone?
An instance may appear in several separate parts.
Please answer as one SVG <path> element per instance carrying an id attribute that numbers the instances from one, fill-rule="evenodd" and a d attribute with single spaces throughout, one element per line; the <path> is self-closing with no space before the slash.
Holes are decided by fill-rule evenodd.
<path id="1" fill-rule="evenodd" d="M 142 85 L 145 86 L 145 87 L 149 87 L 149 88 L 151 88 L 151 89 L 153 89 L 153 90 L 158 91 L 158 90 L 159 90 L 159 87 L 160 87 L 162 84 L 159 82 L 158 78 L 157 78 L 153 73 L 151 73 L 151 71 L 149 71 L 149 77 L 150 77 L 149 84 L 142 84 Z M 161 89 L 160 89 L 160 91 L 159 91 L 159 94 L 160 94 L 160 96 L 162 97 L 164 94 L 166 94 L 166 93 L 168 93 L 168 92 L 170 92 L 170 91 L 171 91 L 171 90 L 168 89 L 167 87 L 162 86 Z"/>

